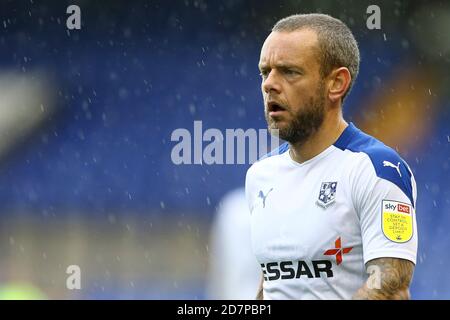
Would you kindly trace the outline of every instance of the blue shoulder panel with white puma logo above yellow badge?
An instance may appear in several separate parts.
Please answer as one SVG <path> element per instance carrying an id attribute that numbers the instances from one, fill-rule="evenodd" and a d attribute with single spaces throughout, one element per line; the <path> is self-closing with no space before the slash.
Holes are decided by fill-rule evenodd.
<path id="1" fill-rule="evenodd" d="M 366 153 L 372 161 L 377 176 L 399 187 L 414 206 L 412 174 L 406 162 L 392 148 L 362 132 L 351 122 L 334 146 L 341 150 Z"/>

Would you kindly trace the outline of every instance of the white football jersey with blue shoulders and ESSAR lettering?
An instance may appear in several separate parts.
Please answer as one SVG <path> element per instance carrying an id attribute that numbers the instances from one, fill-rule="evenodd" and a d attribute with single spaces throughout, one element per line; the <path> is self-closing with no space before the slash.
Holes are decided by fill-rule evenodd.
<path id="1" fill-rule="evenodd" d="M 381 257 L 416 263 L 416 183 L 400 156 L 353 123 L 298 163 L 281 145 L 247 172 L 264 299 L 351 299 Z"/>

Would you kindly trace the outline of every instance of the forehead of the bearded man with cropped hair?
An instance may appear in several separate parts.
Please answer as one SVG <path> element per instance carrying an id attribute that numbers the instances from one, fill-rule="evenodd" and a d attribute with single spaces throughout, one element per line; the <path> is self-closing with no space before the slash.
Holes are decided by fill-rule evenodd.
<path id="1" fill-rule="evenodd" d="M 261 49 L 259 64 L 311 64 L 317 62 L 317 34 L 311 29 L 275 31 L 269 34 Z"/>

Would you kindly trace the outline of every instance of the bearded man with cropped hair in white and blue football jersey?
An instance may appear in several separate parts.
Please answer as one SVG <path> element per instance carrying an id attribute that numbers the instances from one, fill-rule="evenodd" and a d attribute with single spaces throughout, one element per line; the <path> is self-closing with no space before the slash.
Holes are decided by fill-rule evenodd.
<path id="1" fill-rule="evenodd" d="M 348 27 L 323 14 L 282 19 L 263 44 L 265 116 L 287 143 L 246 177 L 258 298 L 410 297 L 416 184 L 394 150 L 343 119 L 359 60 Z"/>

